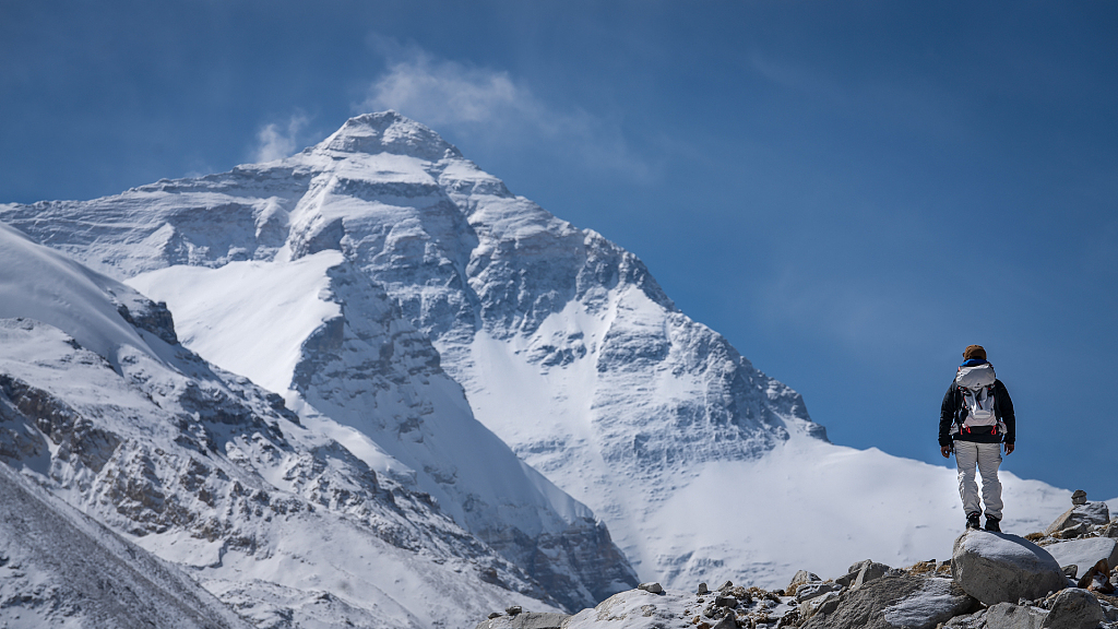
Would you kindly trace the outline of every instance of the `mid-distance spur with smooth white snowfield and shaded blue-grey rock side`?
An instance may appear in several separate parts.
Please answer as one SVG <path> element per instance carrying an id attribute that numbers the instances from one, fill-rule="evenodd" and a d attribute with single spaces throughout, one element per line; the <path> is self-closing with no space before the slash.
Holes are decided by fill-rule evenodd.
<path id="1" fill-rule="evenodd" d="M 636 583 L 605 526 L 473 419 L 427 339 L 339 252 L 130 283 L 170 304 L 188 347 L 286 394 L 309 428 L 434 496 L 569 608 Z"/>

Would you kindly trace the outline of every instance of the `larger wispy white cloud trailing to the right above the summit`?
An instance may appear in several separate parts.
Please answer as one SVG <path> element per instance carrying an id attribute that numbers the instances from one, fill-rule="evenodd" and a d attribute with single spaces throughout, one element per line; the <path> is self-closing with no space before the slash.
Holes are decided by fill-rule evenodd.
<path id="1" fill-rule="evenodd" d="M 440 59 L 416 46 L 375 38 L 389 59 L 354 109 L 396 110 L 440 133 L 514 148 L 548 142 L 600 168 L 643 180 L 646 160 L 635 154 L 618 125 L 582 110 L 562 110 L 537 97 L 508 72 Z"/>

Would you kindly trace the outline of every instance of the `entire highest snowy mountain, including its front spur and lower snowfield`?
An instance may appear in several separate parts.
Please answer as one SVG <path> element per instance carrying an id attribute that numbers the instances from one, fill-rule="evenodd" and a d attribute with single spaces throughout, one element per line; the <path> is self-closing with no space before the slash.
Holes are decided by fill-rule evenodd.
<path id="1" fill-rule="evenodd" d="M 284 394 L 373 469 L 414 473 L 521 566 L 548 557 L 586 574 L 584 558 L 608 555 L 605 529 L 555 499 L 578 531 L 555 537 L 550 516 L 494 516 L 489 499 L 506 489 L 464 489 L 499 468 L 475 470 L 434 419 L 462 403 L 456 386 L 468 401 L 458 412 L 594 509 L 646 580 L 690 588 L 721 567 L 783 585 L 803 565 L 839 573 L 817 556 L 836 543 L 911 563 L 949 546 L 961 520 L 954 472 L 830 444 L 798 394 L 680 312 L 636 256 L 395 112 L 351 119 L 284 160 L 0 206 L 0 219 L 165 301 L 187 347 Z M 1040 484 L 1007 487 L 1039 520 L 1065 500 Z M 484 517 L 471 515 L 472 494 Z M 486 528 L 494 518 L 511 546 Z M 842 538 L 822 538 L 836 523 Z"/>

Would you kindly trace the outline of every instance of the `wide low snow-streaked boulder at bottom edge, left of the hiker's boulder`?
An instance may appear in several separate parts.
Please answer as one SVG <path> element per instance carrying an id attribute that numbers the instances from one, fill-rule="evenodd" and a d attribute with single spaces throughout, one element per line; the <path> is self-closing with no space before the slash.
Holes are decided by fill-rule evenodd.
<path id="1" fill-rule="evenodd" d="M 819 610 L 802 629 L 934 629 L 979 607 L 958 584 L 938 576 L 887 575 Z"/>

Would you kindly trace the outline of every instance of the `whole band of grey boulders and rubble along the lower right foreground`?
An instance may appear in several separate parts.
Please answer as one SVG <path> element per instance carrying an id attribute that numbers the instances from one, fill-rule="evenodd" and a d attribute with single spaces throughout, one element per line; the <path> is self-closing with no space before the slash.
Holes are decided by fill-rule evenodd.
<path id="1" fill-rule="evenodd" d="M 775 591 L 642 583 L 575 616 L 510 608 L 477 629 L 1118 629 L 1116 584 L 1118 518 L 1080 490 L 1043 532 L 967 531 L 950 561 L 865 560 L 826 580 L 802 570 Z"/>

